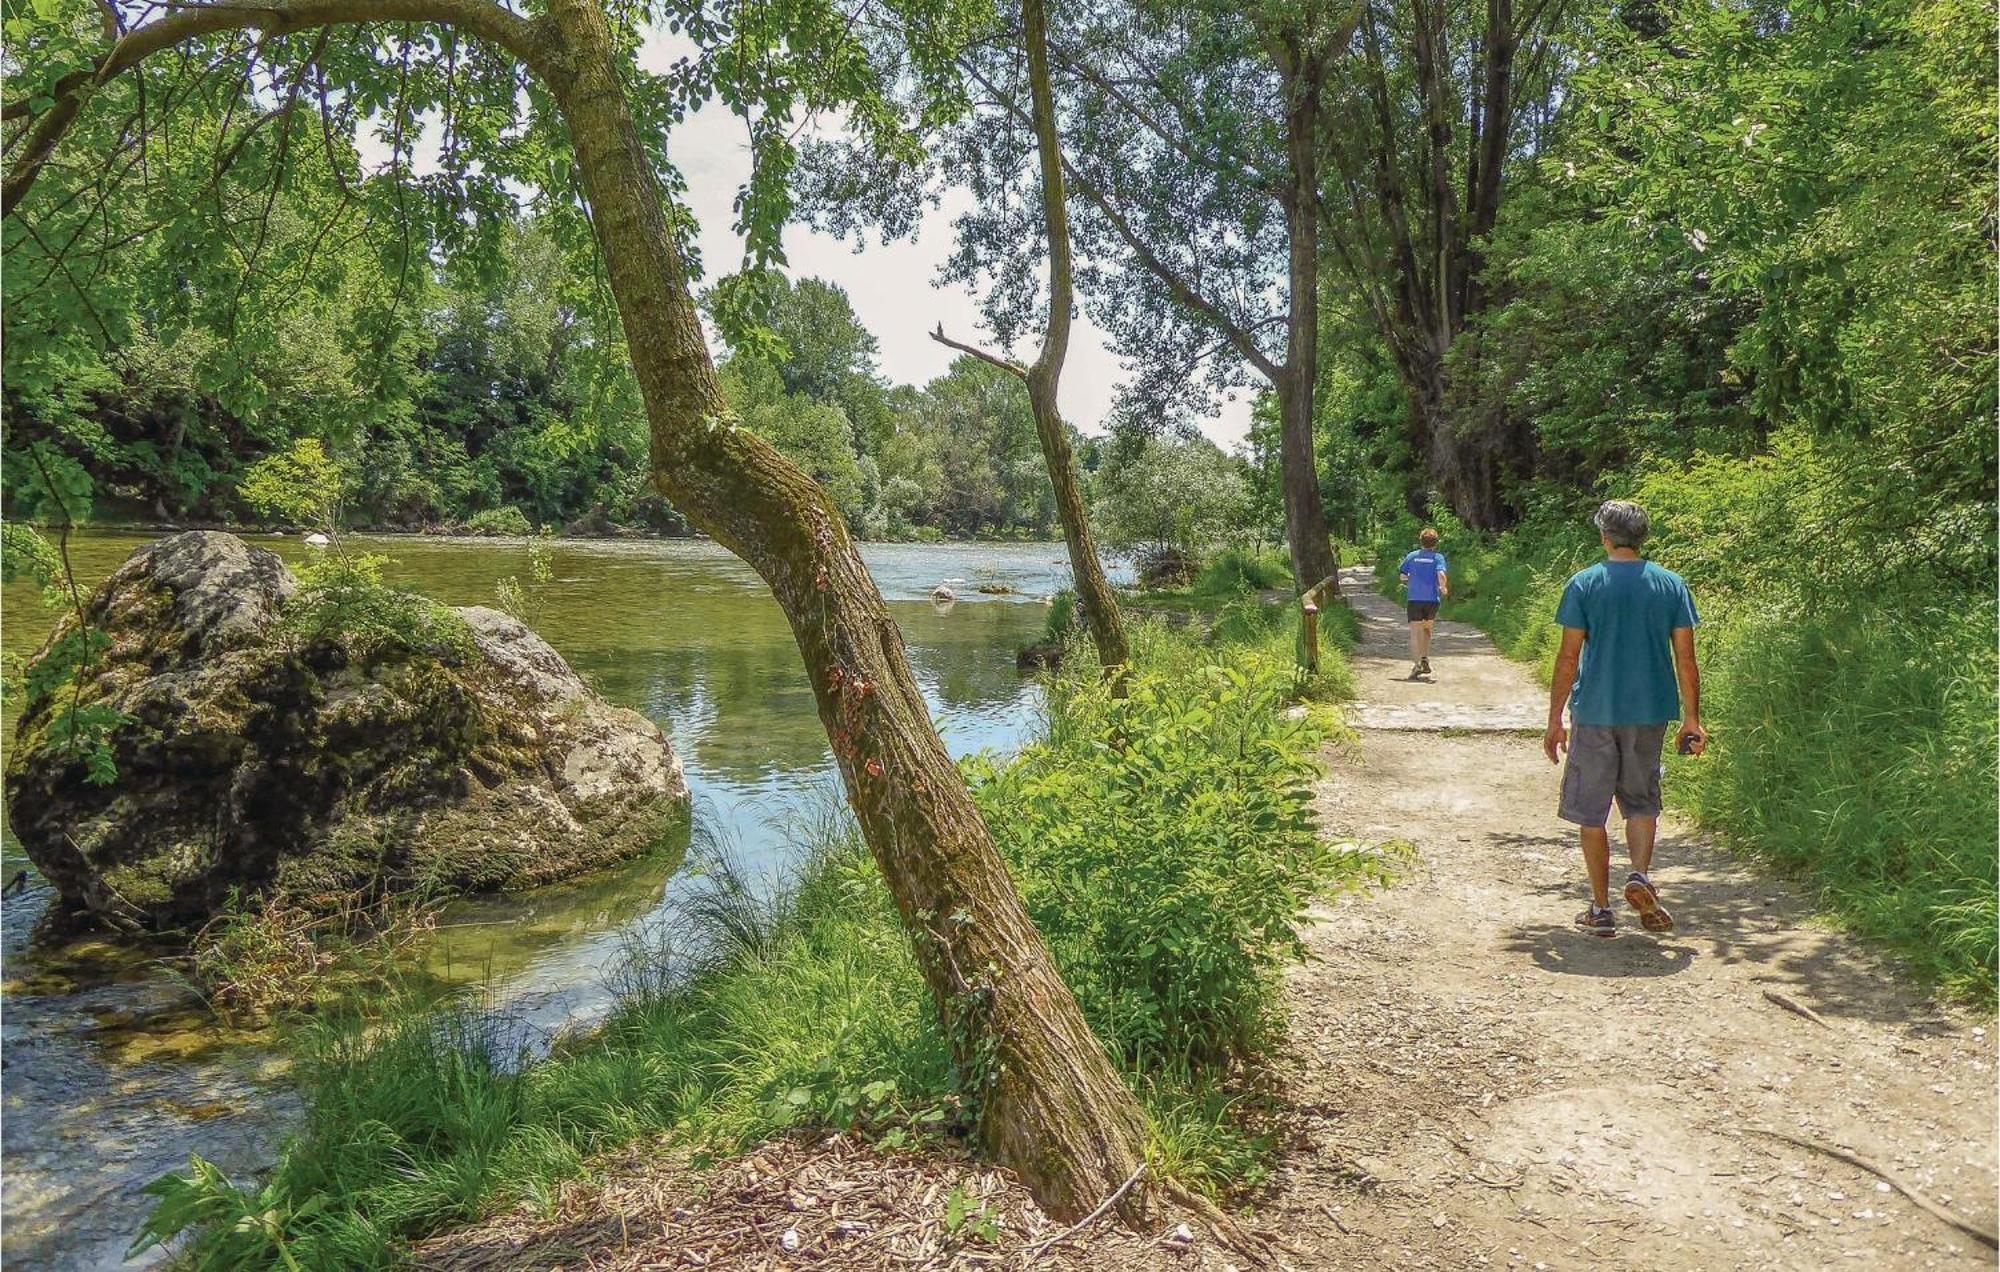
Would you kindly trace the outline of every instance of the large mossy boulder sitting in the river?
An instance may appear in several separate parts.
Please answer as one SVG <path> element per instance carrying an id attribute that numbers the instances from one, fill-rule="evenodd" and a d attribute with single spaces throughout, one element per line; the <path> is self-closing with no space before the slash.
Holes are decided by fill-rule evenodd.
<path id="1" fill-rule="evenodd" d="M 6 766 L 14 834 L 66 904 L 178 928 L 232 890 L 528 888 L 680 834 L 668 740 L 520 622 L 430 606 L 442 636 L 362 646 L 296 622 L 310 600 L 218 532 L 148 544 L 98 588 L 110 644 L 80 692 L 128 716 L 116 780 L 54 728 L 68 690 L 28 706 Z"/>

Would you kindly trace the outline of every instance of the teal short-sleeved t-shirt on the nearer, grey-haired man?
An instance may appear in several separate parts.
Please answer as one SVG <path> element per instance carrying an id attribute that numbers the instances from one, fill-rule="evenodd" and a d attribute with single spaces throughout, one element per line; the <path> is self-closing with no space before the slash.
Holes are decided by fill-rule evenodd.
<path id="1" fill-rule="evenodd" d="M 1650 560 L 1600 560 L 1562 588 L 1556 622 L 1584 632 L 1570 690 L 1576 724 L 1666 724 L 1680 718 L 1674 630 L 1692 628 L 1694 596 Z"/>

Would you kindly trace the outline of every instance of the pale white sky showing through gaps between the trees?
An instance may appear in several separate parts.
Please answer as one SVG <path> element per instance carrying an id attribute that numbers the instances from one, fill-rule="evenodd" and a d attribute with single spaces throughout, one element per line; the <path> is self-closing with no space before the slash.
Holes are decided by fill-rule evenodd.
<path id="1" fill-rule="evenodd" d="M 646 52 L 652 54 L 654 48 Z M 736 268 L 742 240 L 730 228 L 732 204 L 750 176 L 750 142 L 742 120 L 710 104 L 668 140 L 668 156 L 688 178 L 688 204 L 702 226 L 700 250 L 710 276 Z M 948 196 L 940 208 L 926 210 L 914 240 L 882 244 L 878 236 L 870 236 L 860 252 L 850 240 L 810 226 L 794 224 L 784 232 L 788 272 L 846 288 L 862 326 L 880 344 L 882 374 L 896 384 L 924 384 L 944 374 L 958 356 L 930 338 L 938 322 L 954 340 L 992 346 L 992 338 L 980 328 L 974 294 L 962 286 L 938 284 L 938 266 L 952 250 L 954 202 L 962 206 L 964 198 L 960 192 L 956 200 Z M 1014 352 L 1022 360 L 1034 358 L 1032 346 Z M 1064 418 L 1086 434 L 1102 432 L 1102 420 L 1124 378 L 1118 356 L 1106 348 L 1104 332 L 1090 322 L 1086 302 L 1070 328 L 1070 356 L 1062 366 Z M 1248 428 L 1248 392 L 1222 402 L 1218 418 L 1202 424 L 1202 432 L 1224 450 L 1242 442 Z"/>

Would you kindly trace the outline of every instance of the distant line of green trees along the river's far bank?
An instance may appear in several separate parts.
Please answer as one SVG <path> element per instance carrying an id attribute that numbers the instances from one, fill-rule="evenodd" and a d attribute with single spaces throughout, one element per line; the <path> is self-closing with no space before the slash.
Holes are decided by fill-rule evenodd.
<path id="1" fill-rule="evenodd" d="M 8 342 L 6 512 L 50 516 L 34 458 L 82 470 L 100 520 L 258 522 L 238 482 L 294 438 L 328 444 L 358 528 L 686 534 L 652 490 L 646 420 L 596 280 L 520 218 L 484 276 L 430 266 L 396 282 L 354 254 L 340 300 L 266 314 L 272 338 L 134 320 L 112 350 Z M 1018 380 L 958 358 L 890 384 L 846 292 L 778 280 L 758 338 L 720 374 L 744 426 L 812 474 L 864 538 L 1050 538 L 1056 508 Z M 56 356 L 52 356 L 56 354 Z M 16 368 L 20 372 L 16 374 Z M 1144 446 L 1074 438 L 1086 482 Z M 1242 482 L 1212 446 L 1194 462 Z M 1200 482 L 1198 482 L 1200 484 Z M 1210 518 L 1214 522 L 1214 518 Z M 1140 538 L 1122 538 L 1136 546 Z"/>

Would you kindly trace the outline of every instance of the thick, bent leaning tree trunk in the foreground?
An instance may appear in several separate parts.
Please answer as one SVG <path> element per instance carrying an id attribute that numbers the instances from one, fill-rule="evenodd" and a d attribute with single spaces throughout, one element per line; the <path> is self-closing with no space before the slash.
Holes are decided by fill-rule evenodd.
<path id="1" fill-rule="evenodd" d="M 1138 1102 L 1028 920 L 840 514 L 722 400 L 604 12 L 550 0 L 548 20 L 544 74 L 576 146 L 660 488 L 784 608 L 848 802 L 982 1094 L 984 1142 L 1050 1214 L 1078 1216 L 1140 1164 Z"/>

